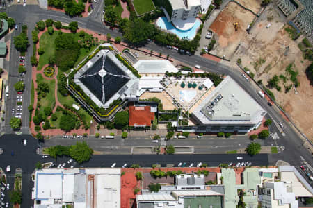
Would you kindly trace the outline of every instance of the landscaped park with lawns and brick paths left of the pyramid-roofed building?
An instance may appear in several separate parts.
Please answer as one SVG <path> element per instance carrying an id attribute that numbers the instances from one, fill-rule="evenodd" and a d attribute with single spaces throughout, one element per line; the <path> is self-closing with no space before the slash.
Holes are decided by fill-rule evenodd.
<path id="1" fill-rule="evenodd" d="M 75 24 L 61 27 L 58 24 L 48 19 L 43 27 L 40 21 L 32 33 L 34 57 L 29 111 L 31 132 L 38 137 L 64 132 L 86 135 L 93 121 L 65 85 L 70 69 L 93 51 L 99 40 L 78 30 Z"/>

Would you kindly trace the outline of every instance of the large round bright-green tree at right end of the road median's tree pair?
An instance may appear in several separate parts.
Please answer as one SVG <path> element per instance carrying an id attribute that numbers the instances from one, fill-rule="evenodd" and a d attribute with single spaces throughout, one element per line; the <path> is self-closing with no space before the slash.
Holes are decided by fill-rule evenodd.
<path id="1" fill-rule="evenodd" d="M 88 146 L 86 141 L 78 142 L 76 145 L 70 146 L 70 155 L 73 159 L 75 159 L 78 163 L 82 163 L 84 161 L 88 161 L 93 155 L 93 149 Z"/>

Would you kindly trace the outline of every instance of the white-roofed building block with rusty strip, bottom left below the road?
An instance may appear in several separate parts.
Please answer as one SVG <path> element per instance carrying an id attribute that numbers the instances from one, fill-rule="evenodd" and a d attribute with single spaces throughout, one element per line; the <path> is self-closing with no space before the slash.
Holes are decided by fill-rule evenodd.
<path id="1" fill-rule="evenodd" d="M 32 198 L 35 208 L 120 208 L 120 169 L 43 169 L 35 172 Z"/>

